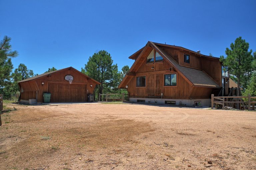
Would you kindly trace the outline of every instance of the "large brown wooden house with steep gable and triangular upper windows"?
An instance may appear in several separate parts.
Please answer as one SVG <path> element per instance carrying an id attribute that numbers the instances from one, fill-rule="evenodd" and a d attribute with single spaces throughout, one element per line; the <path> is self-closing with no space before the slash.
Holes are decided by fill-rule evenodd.
<path id="1" fill-rule="evenodd" d="M 229 95 L 219 58 L 149 41 L 129 59 L 135 62 L 118 87 L 127 88 L 130 101 L 210 106 L 212 93 Z"/>

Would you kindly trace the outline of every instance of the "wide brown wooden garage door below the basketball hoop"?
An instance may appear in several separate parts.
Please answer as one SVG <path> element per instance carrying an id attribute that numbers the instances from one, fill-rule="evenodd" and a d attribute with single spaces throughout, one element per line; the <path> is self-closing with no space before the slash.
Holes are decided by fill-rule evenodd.
<path id="1" fill-rule="evenodd" d="M 51 93 L 50 102 L 82 102 L 86 101 L 86 85 L 69 83 L 48 83 Z"/>

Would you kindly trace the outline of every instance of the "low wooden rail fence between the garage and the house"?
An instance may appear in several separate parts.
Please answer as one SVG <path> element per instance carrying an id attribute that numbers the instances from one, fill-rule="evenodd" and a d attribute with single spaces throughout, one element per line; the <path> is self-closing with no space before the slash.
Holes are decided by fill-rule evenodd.
<path id="1" fill-rule="evenodd" d="M 102 101 L 127 101 L 129 100 L 129 95 L 128 94 L 118 94 L 118 93 L 114 93 L 114 94 L 100 94 L 99 95 L 99 101 L 101 101 L 100 99 L 102 99 Z"/>

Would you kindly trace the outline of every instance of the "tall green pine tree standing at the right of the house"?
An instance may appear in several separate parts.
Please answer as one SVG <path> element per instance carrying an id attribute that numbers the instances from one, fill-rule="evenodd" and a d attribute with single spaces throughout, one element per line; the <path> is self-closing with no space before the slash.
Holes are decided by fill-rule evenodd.
<path id="1" fill-rule="evenodd" d="M 237 93 L 239 93 L 239 87 L 246 87 L 246 81 L 254 70 L 252 50 L 249 50 L 249 43 L 239 37 L 235 43 L 231 43 L 230 49 L 226 48 L 226 55 L 226 58 L 221 56 L 220 61 L 228 67 L 229 73 L 237 78 Z"/>

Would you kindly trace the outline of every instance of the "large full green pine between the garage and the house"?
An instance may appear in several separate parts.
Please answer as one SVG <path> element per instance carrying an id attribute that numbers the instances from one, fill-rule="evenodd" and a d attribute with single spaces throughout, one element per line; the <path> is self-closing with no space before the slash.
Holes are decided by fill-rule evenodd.
<path id="1" fill-rule="evenodd" d="M 100 94 L 117 89 L 120 82 L 117 65 L 113 64 L 110 54 L 105 50 L 94 53 L 81 72 L 101 83 L 95 89 Z"/>

